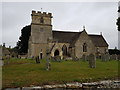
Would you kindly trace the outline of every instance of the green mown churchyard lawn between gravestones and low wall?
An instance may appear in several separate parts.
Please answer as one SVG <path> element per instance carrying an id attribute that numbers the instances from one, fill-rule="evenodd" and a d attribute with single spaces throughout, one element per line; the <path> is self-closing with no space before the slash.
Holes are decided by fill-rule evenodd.
<path id="1" fill-rule="evenodd" d="M 45 60 L 36 64 L 30 59 L 11 59 L 2 68 L 2 86 L 7 88 L 111 79 L 118 77 L 118 63 L 115 60 L 97 60 L 97 67 L 92 69 L 87 61 L 51 62 L 51 71 L 46 71 Z"/>

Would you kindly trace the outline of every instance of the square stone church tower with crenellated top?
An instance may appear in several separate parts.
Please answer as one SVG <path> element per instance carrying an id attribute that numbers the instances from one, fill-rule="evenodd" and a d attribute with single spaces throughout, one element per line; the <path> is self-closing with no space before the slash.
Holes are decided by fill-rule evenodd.
<path id="1" fill-rule="evenodd" d="M 32 11 L 31 37 L 29 40 L 29 56 L 46 56 L 46 47 L 52 39 L 51 13 Z M 32 52 L 31 52 L 32 51 Z"/>

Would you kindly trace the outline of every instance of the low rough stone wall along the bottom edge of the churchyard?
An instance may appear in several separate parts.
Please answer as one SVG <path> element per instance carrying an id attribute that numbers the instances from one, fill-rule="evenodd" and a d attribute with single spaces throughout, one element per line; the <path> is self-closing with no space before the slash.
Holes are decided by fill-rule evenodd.
<path id="1" fill-rule="evenodd" d="M 57 84 L 57 85 L 44 85 L 44 86 L 32 86 L 31 87 L 21 87 L 21 88 L 7 88 L 5 90 L 73 90 L 73 89 L 88 89 L 90 88 L 113 88 L 116 90 L 120 89 L 120 80 L 105 80 L 99 82 L 90 82 L 90 83 L 66 83 L 66 84 Z M 95 90 L 96 90 L 95 89 Z M 112 89 L 111 89 L 112 90 Z"/>

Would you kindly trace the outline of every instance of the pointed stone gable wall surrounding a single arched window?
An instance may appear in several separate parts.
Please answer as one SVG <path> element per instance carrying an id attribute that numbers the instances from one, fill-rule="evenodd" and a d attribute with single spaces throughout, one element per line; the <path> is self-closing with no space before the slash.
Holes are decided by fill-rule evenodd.
<path id="1" fill-rule="evenodd" d="M 87 52 L 83 52 L 84 43 L 87 44 Z M 93 45 L 86 31 L 83 31 L 75 43 L 75 56 L 77 58 L 82 58 L 83 55 L 89 55 L 91 53 L 95 54 L 95 46 Z"/>

